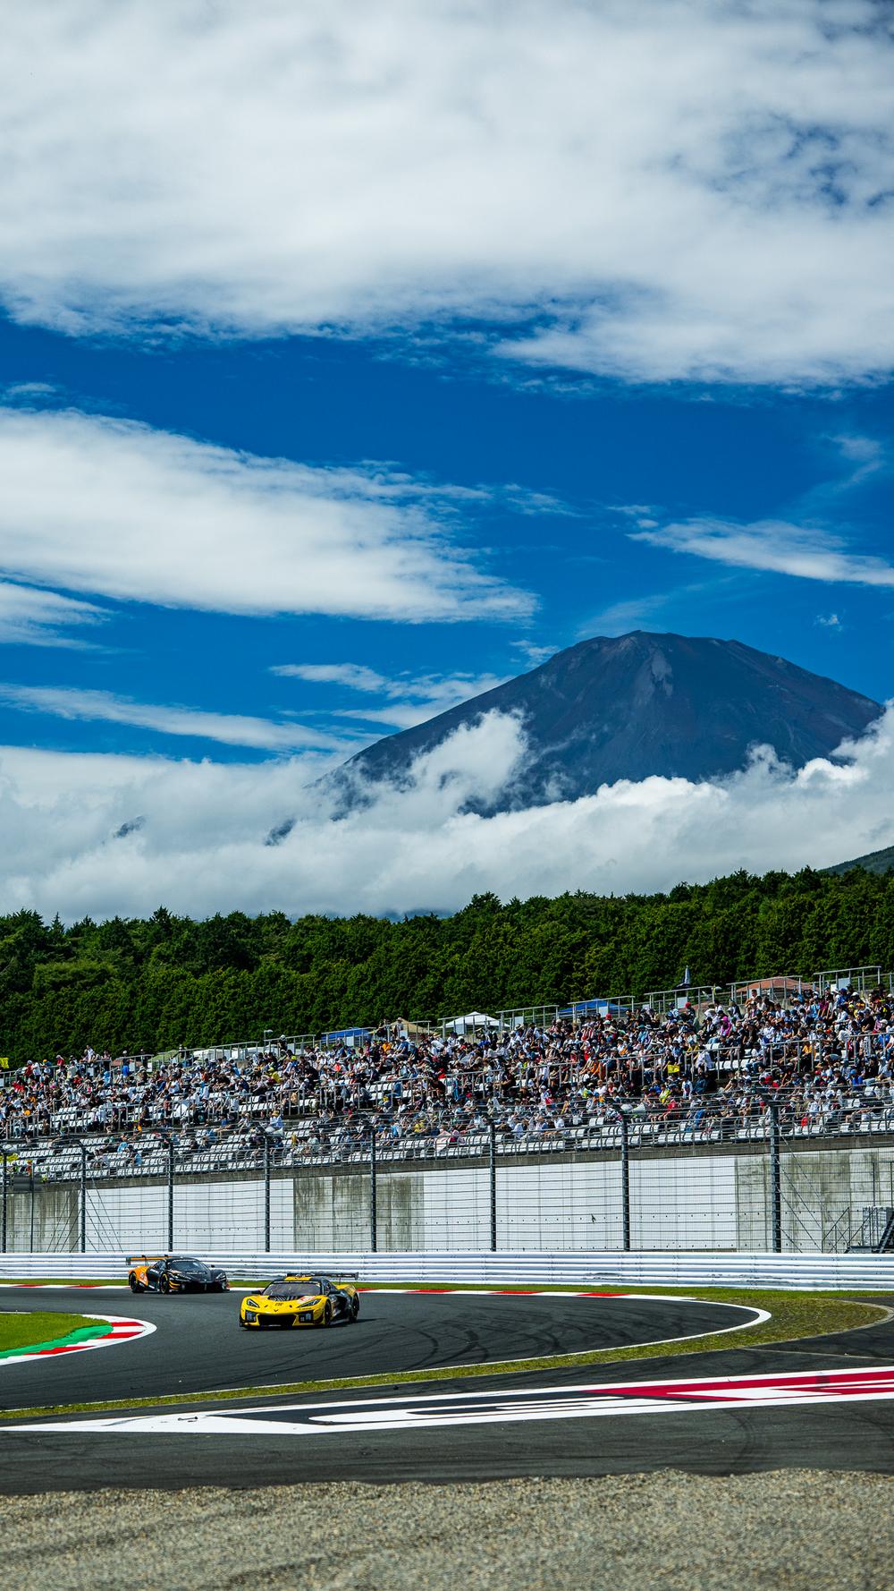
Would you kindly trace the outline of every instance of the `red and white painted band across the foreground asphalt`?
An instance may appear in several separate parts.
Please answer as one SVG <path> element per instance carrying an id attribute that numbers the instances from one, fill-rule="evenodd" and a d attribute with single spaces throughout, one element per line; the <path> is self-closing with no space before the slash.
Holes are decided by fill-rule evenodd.
<path id="1" fill-rule="evenodd" d="M 495 1392 L 445 1392 L 369 1398 L 363 1403 L 278 1403 L 267 1408 L 107 1419 L 54 1421 L 5 1430 L 92 1430 L 99 1433 L 202 1437 L 326 1437 L 444 1426 L 593 1419 L 627 1414 L 682 1414 L 751 1408 L 821 1408 L 827 1403 L 894 1398 L 894 1365 L 870 1370 L 795 1370 L 787 1375 L 722 1376 L 686 1381 L 630 1381 Z"/>

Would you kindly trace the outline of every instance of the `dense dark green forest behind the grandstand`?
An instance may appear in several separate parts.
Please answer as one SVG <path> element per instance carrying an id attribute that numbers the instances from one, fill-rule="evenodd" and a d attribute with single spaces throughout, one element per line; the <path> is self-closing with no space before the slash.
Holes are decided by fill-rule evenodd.
<path id="1" fill-rule="evenodd" d="M 476 896 L 453 916 L 0 916 L 0 1055 L 156 1052 L 398 1017 L 894 969 L 894 873 L 744 872 L 668 894 Z"/>

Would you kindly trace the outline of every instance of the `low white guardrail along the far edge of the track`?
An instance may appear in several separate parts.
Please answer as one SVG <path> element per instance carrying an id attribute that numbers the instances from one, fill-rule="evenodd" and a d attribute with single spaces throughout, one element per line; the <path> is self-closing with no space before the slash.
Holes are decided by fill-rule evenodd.
<path id="1" fill-rule="evenodd" d="M 581 1284 L 587 1287 L 702 1286 L 778 1287 L 786 1290 L 864 1289 L 894 1292 L 894 1255 L 875 1254 L 240 1254 L 215 1249 L 200 1255 L 231 1276 L 262 1281 L 283 1271 L 356 1271 L 364 1282 Z M 6 1254 L 0 1281 L 124 1279 L 127 1255 Z"/>

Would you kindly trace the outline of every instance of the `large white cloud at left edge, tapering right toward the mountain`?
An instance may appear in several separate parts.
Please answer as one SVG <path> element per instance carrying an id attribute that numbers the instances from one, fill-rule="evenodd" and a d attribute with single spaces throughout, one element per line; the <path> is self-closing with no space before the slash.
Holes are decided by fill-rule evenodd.
<path id="1" fill-rule="evenodd" d="M 406 477 L 312 469 L 73 410 L 0 409 L 0 565 L 65 590 L 220 613 L 509 617 Z"/>

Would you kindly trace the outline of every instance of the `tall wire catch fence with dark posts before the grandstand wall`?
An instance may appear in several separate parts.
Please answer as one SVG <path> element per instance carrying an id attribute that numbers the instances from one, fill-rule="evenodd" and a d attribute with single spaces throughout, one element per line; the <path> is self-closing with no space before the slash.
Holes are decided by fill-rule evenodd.
<path id="1" fill-rule="evenodd" d="M 173 1138 L 2 1150 L 0 1251 L 894 1251 L 894 1104 L 673 1120 L 641 1103 L 539 1138 L 382 1123 L 185 1153 Z"/>

